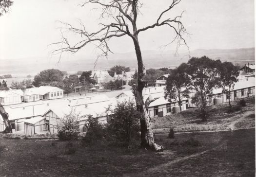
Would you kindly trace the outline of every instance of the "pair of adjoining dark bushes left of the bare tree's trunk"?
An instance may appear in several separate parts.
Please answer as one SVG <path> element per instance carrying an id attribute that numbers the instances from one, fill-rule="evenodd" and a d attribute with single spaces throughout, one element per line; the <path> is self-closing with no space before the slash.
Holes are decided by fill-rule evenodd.
<path id="1" fill-rule="evenodd" d="M 98 119 L 88 115 L 86 135 L 83 144 L 103 143 L 105 145 L 136 148 L 139 146 L 139 119 L 141 113 L 133 101 L 118 103 L 114 109 L 108 107 L 107 124 L 98 123 Z"/>

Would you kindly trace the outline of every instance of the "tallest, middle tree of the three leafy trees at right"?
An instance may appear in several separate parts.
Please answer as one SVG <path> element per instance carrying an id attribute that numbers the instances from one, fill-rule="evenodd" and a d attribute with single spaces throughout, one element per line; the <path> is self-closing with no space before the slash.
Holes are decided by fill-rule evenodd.
<path id="1" fill-rule="evenodd" d="M 220 86 L 220 60 L 212 60 L 207 56 L 192 57 L 186 67 L 186 72 L 191 76 L 190 89 L 197 92 L 197 105 L 200 108 L 199 117 L 206 121 L 206 95 L 210 95 L 214 88 Z"/>

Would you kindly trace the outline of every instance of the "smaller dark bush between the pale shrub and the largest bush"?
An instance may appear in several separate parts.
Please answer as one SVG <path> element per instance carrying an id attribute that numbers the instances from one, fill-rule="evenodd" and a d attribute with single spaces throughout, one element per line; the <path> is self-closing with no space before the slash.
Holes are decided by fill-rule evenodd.
<path id="1" fill-rule="evenodd" d="M 86 134 L 82 138 L 82 144 L 98 142 L 106 139 L 106 128 L 104 125 L 98 123 L 98 119 L 92 115 L 87 115 L 88 120 L 84 125 Z"/>

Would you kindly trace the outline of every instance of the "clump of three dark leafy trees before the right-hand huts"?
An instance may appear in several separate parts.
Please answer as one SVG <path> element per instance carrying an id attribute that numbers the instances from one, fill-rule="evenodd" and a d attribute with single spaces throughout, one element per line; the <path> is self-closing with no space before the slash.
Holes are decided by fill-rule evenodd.
<path id="1" fill-rule="evenodd" d="M 221 63 L 220 60 L 212 60 L 207 56 L 192 57 L 168 76 L 165 98 L 170 102 L 177 101 L 180 106 L 181 98 L 194 92 L 192 103 L 200 109 L 198 116 L 202 121 L 207 121 L 207 97 L 212 94 L 213 89 L 222 87 L 228 95 L 231 108 L 230 91 L 237 82 L 238 74 L 238 68 L 231 62 Z"/>

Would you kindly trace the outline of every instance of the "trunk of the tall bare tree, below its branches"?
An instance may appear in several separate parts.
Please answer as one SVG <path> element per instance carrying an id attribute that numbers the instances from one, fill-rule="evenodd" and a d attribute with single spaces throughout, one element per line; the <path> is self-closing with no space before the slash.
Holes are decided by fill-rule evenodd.
<path id="1" fill-rule="evenodd" d="M 144 80 L 144 65 L 142 61 L 142 56 L 140 52 L 140 47 L 138 44 L 138 38 L 133 39 L 137 61 L 138 61 L 138 85 L 134 86 L 134 96 L 136 101 L 137 110 L 142 113 L 140 118 L 140 133 L 141 133 L 141 146 L 154 149 L 156 151 L 163 151 L 163 146 L 159 146 L 154 142 L 153 126 L 143 102 L 142 90 L 145 86 Z"/>

